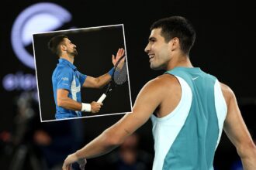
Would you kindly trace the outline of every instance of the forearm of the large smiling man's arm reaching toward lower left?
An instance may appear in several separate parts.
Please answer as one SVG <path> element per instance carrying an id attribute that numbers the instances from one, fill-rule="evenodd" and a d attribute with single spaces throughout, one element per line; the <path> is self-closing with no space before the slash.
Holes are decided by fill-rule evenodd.
<path id="1" fill-rule="evenodd" d="M 76 151 L 75 155 L 80 158 L 95 158 L 99 155 L 105 155 L 119 146 L 119 143 L 112 138 L 111 135 L 104 131 L 98 138 L 95 138 L 84 148 Z"/>

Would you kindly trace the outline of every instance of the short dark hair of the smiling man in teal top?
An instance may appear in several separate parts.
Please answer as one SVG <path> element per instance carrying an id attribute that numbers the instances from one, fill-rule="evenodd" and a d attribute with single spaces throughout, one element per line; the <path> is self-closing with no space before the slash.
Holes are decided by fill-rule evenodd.
<path id="1" fill-rule="evenodd" d="M 160 28 L 161 36 L 164 37 L 165 42 L 169 42 L 171 39 L 177 37 L 183 53 L 189 54 L 195 42 L 195 29 L 188 19 L 182 16 L 159 19 L 152 24 L 150 30 Z"/>

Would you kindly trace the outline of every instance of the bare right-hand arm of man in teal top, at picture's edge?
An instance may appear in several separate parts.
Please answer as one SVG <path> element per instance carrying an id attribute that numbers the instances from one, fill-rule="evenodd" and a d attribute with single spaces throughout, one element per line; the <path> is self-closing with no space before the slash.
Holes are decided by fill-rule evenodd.
<path id="1" fill-rule="evenodd" d="M 247 130 L 240 109 L 237 105 L 233 91 L 224 84 L 221 84 L 223 95 L 227 103 L 227 117 L 224 122 L 224 131 L 230 141 L 237 148 L 245 170 L 256 169 L 256 147 Z"/>

